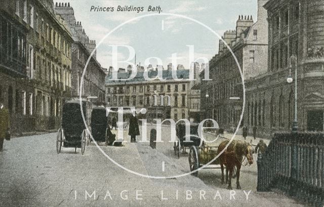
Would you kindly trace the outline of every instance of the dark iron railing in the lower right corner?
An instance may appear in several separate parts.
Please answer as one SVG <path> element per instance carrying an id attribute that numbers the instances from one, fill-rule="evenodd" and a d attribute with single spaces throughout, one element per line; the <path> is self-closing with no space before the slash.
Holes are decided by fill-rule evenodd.
<path id="1" fill-rule="evenodd" d="M 273 188 L 312 206 L 324 205 L 324 133 L 275 133 L 258 155 L 258 191 Z"/>

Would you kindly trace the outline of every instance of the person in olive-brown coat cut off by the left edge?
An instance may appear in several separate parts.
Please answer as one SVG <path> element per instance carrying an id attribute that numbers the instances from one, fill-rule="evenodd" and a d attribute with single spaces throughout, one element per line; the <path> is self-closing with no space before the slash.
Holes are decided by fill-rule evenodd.
<path id="1" fill-rule="evenodd" d="M 10 140 L 10 117 L 8 108 L 0 101 L 0 152 L 4 148 L 4 141 Z"/>

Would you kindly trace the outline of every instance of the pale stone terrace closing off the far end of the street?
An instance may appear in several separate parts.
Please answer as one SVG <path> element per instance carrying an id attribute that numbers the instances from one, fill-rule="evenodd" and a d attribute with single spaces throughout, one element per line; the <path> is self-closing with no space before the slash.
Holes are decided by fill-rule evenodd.
<path id="1" fill-rule="evenodd" d="M 198 70 L 199 68 L 196 68 Z M 172 77 L 172 65 L 169 64 L 167 70 L 163 70 L 165 80 L 145 80 L 144 72 L 137 72 L 136 77 L 119 81 L 112 80 L 112 76 L 106 78 L 106 103 L 108 106 L 135 106 L 136 108 L 146 108 L 146 118 L 171 118 L 178 120 L 181 118 L 195 119 L 195 113 L 199 113 L 199 89 L 195 81 L 189 81 L 189 69 L 177 69 L 176 74 L 182 80 L 174 80 Z M 128 78 L 130 72 L 117 73 L 118 79 Z M 148 72 L 148 77 L 156 77 L 156 69 Z M 198 72 L 195 73 L 197 77 Z M 195 89 L 191 89 L 196 86 Z M 192 93 L 194 92 L 194 93 Z M 154 95 L 157 106 L 154 105 Z M 165 96 L 163 105 L 161 97 Z M 170 105 L 168 105 L 168 96 Z"/>

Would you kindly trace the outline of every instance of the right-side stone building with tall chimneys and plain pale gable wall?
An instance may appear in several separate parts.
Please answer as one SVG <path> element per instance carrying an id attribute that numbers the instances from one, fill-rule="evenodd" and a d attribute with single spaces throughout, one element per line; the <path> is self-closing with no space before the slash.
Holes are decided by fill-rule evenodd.
<path id="1" fill-rule="evenodd" d="M 240 15 L 236 29 L 226 31 L 219 40 L 218 54 L 209 63 L 212 80 L 203 80 L 205 71 L 200 73 L 201 115 L 215 119 L 227 130 L 237 127 L 242 113 L 242 80 L 248 81 L 267 71 L 268 25 L 263 8 L 266 2 L 258 0 L 256 22 L 252 16 Z M 241 121 L 243 124 L 244 120 Z"/>

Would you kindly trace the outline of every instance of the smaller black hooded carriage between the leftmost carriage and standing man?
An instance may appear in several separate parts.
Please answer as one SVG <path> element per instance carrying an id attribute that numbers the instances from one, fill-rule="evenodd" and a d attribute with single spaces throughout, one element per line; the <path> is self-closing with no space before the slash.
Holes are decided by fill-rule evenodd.
<path id="1" fill-rule="evenodd" d="M 105 145 L 112 145 L 115 135 L 110 131 L 108 125 L 107 111 L 105 107 L 95 107 L 91 113 L 91 135 L 96 142 L 105 142 Z M 91 141 L 91 139 L 89 139 Z"/>

